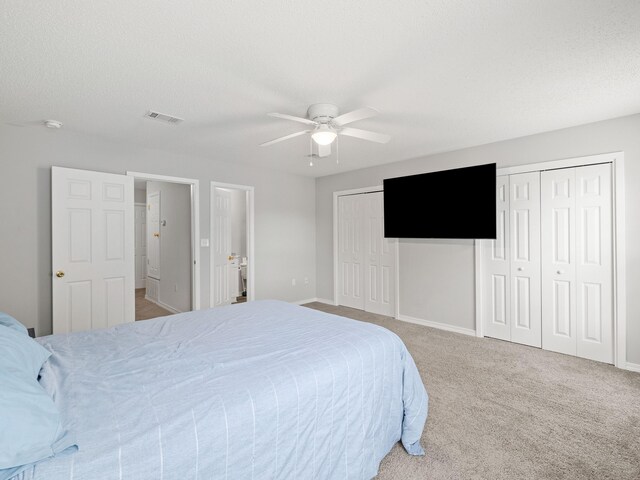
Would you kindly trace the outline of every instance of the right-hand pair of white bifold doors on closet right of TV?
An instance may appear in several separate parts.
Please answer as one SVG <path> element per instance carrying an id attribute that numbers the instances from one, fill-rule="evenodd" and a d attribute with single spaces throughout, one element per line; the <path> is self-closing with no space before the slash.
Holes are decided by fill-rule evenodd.
<path id="1" fill-rule="evenodd" d="M 542 174 L 543 348 L 613 362 L 611 165 Z"/>

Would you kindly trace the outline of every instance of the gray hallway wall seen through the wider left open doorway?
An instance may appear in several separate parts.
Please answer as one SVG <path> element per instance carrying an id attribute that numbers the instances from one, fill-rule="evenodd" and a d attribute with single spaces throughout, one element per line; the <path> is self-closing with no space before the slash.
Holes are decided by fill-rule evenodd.
<path id="1" fill-rule="evenodd" d="M 147 195 L 156 192 L 160 192 L 158 300 L 174 310 L 188 312 L 191 310 L 192 298 L 191 186 L 180 183 L 147 182 Z M 163 222 L 166 223 L 163 224 Z"/>

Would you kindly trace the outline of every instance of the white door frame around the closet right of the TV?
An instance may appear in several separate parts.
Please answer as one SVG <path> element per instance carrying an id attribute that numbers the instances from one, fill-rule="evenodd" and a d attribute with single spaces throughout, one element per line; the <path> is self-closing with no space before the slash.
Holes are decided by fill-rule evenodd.
<path id="1" fill-rule="evenodd" d="M 552 160 L 548 162 L 498 168 L 497 176 L 514 173 L 542 172 L 560 168 L 581 167 L 610 163 L 612 168 L 612 247 L 613 247 L 613 361 L 618 368 L 627 366 L 627 293 L 626 293 L 626 239 L 624 201 L 624 152 L 603 153 L 585 157 Z M 484 337 L 482 318 L 482 243 L 475 240 L 476 336 Z"/>

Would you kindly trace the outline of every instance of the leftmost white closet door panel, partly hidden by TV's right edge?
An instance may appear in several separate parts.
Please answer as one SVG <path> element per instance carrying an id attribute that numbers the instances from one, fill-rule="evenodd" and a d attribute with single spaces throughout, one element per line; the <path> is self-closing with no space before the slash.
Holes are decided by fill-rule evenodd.
<path id="1" fill-rule="evenodd" d="M 509 177 L 496 178 L 496 239 L 482 242 L 482 318 L 487 337 L 511 340 Z"/>

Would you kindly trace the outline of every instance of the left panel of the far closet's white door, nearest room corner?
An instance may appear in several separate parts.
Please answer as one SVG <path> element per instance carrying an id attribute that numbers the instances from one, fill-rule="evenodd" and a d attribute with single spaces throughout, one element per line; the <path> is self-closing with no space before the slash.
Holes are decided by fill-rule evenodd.
<path id="1" fill-rule="evenodd" d="M 338 303 L 364 310 L 362 195 L 338 197 Z"/>

